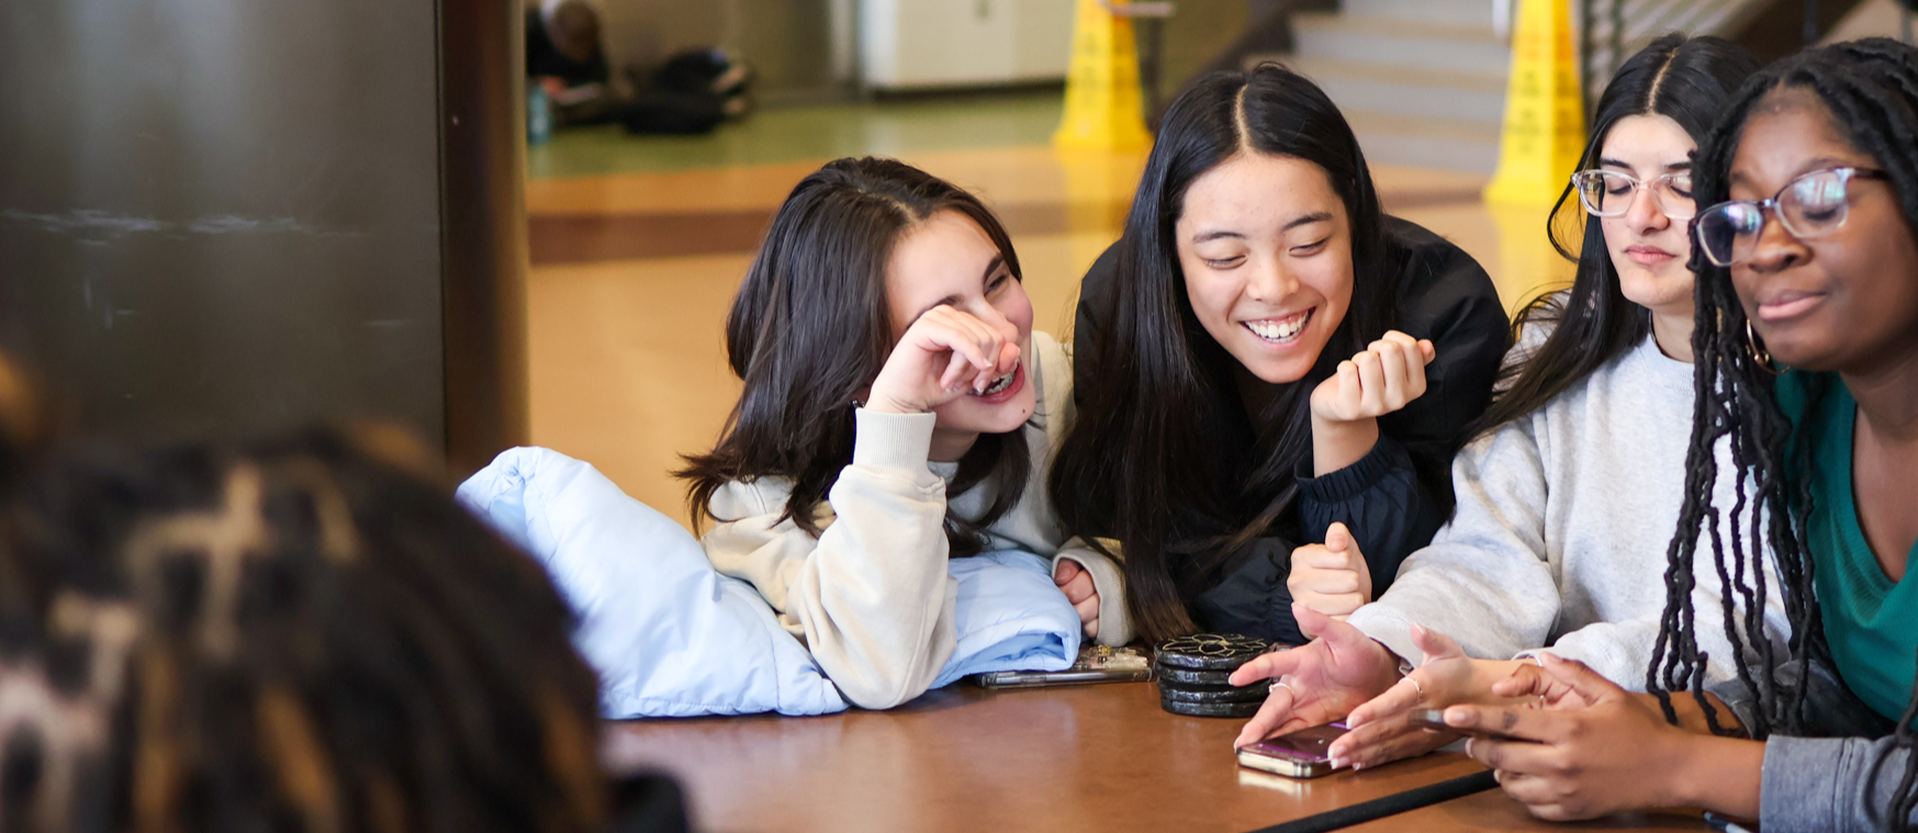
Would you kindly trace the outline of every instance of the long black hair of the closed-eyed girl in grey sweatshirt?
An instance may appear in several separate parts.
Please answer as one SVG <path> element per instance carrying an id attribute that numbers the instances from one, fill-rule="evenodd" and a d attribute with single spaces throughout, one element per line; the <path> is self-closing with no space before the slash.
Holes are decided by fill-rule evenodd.
<path id="1" fill-rule="evenodd" d="M 1759 61 L 1728 40 L 1676 33 L 1653 40 L 1605 84 L 1579 169 L 1600 167 L 1605 136 L 1630 115 L 1665 115 L 1692 142 L 1703 144 L 1724 102 L 1757 69 Z M 1552 207 L 1548 234 L 1563 257 L 1579 263 L 1579 271 L 1569 292 L 1546 292 L 1513 317 L 1513 342 L 1534 324 L 1552 326 L 1552 334 L 1525 361 L 1500 369 L 1502 393 L 1473 424 L 1473 436 L 1538 411 L 1651 332 L 1651 313 L 1626 299 L 1619 286 L 1603 223 L 1584 217 L 1569 182 Z"/>

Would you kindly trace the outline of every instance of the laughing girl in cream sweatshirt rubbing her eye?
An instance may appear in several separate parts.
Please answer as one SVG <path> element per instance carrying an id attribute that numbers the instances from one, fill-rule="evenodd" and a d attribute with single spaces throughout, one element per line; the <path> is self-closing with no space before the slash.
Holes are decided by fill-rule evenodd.
<path id="1" fill-rule="evenodd" d="M 1130 639 L 1118 568 L 1068 547 L 1043 489 L 1072 369 L 1032 330 L 1018 255 L 978 198 L 892 159 L 806 177 L 727 319 L 744 392 L 687 457 L 702 545 L 865 708 L 955 647 L 947 557 L 1053 560 L 1088 637 Z"/>

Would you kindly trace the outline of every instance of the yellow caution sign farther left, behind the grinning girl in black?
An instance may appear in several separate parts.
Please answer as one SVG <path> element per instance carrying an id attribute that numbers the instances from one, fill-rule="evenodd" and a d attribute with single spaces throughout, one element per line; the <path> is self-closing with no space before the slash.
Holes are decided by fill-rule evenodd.
<path id="1" fill-rule="evenodd" d="M 1112 6 L 1124 6 L 1114 2 Z M 1145 102 L 1139 92 L 1139 50 L 1132 21 L 1099 0 L 1078 0 L 1072 21 L 1072 63 L 1066 71 L 1066 113 L 1053 146 L 1070 150 L 1145 150 Z"/>

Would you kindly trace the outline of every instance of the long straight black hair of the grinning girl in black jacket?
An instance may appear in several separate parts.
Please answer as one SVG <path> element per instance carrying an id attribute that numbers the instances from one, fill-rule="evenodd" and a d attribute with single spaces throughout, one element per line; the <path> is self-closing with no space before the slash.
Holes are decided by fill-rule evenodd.
<path id="1" fill-rule="evenodd" d="M 1199 324 L 1185 294 L 1174 225 L 1185 190 L 1239 154 L 1289 155 L 1325 171 L 1352 228 L 1352 307 L 1306 378 L 1279 386 L 1251 420 L 1237 359 Z M 1147 639 L 1195 630 L 1172 578 L 1222 568 L 1262 536 L 1298 493 L 1295 466 L 1312 451 L 1312 388 L 1396 324 L 1398 271 L 1358 138 L 1312 81 L 1275 63 L 1214 73 L 1181 94 L 1158 129 L 1118 242 L 1118 280 L 1097 338 L 1107 359 L 1076 392 L 1078 420 L 1051 472 L 1066 528 L 1118 537 L 1126 605 Z M 1222 453 L 1224 436 L 1252 438 Z M 1251 520 L 1247 520 L 1251 518 Z"/>

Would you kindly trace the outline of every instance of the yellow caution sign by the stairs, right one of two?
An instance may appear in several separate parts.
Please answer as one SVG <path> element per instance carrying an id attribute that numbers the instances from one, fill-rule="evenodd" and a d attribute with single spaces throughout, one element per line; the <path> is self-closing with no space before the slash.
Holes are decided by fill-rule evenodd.
<path id="1" fill-rule="evenodd" d="M 1485 200 L 1506 205 L 1550 205 L 1565 192 L 1584 148 L 1584 96 L 1573 54 L 1571 4 L 1519 0 L 1511 33 L 1511 81 L 1498 173 Z"/>

